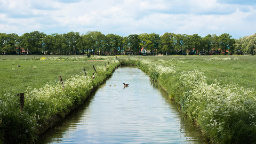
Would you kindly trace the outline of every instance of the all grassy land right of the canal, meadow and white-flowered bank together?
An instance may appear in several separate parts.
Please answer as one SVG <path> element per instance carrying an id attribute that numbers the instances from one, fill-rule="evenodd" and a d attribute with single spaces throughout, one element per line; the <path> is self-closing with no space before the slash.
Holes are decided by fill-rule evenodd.
<path id="1" fill-rule="evenodd" d="M 248 58 L 248 57 L 247 57 Z M 256 142 L 255 58 L 138 59 L 213 143 Z"/>

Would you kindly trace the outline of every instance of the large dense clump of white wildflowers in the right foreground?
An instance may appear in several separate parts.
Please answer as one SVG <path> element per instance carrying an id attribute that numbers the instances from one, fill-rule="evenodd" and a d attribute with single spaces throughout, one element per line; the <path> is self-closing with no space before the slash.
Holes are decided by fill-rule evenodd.
<path id="1" fill-rule="evenodd" d="M 203 74 L 198 70 L 181 73 L 180 80 L 188 90 L 182 96 L 183 112 L 197 121 L 213 142 L 255 142 L 255 90 L 217 81 L 207 85 Z"/>

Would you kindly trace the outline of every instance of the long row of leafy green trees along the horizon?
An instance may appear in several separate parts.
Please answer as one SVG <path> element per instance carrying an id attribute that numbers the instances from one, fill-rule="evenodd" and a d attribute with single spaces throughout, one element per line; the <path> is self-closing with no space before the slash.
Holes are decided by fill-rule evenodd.
<path id="1" fill-rule="evenodd" d="M 141 54 L 145 47 L 147 54 L 254 54 L 256 35 L 240 39 L 229 34 L 134 34 L 126 37 L 99 31 L 88 31 L 80 35 L 73 31 L 67 34 L 46 35 L 39 31 L 17 34 L 0 33 L 1 54 Z"/>

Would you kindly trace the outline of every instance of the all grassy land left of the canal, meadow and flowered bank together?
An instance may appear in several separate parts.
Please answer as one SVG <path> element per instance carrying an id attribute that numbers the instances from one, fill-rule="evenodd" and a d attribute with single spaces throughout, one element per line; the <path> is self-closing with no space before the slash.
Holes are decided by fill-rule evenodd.
<path id="1" fill-rule="evenodd" d="M 60 121 L 70 110 L 81 105 L 94 87 L 98 87 L 119 66 L 117 60 L 112 60 L 105 69 L 105 63 L 107 60 L 59 58 L 1 60 L 0 139 L 6 143 L 35 141 L 54 121 Z M 94 72 L 92 65 L 98 72 L 95 78 L 91 77 Z M 59 75 L 62 76 L 64 90 L 59 83 Z M 25 93 L 22 111 L 19 111 L 17 93 Z"/>

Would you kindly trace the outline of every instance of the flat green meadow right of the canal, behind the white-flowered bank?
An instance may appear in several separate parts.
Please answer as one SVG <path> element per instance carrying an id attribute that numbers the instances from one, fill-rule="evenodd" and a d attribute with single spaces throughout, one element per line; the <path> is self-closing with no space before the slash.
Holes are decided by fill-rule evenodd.
<path id="1" fill-rule="evenodd" d="M 174 65 L 178 71 L 200 70 L 207 83 L 218 79 L 221 84 L 236 83 L 256 87 L 256 56 L 252 55 L 170 55 L 135 57 L 149 60 L 166 60 L 164 66 Z M 168 62 L 171 61 L 171 64 Z"/>

